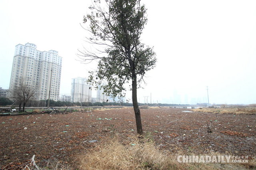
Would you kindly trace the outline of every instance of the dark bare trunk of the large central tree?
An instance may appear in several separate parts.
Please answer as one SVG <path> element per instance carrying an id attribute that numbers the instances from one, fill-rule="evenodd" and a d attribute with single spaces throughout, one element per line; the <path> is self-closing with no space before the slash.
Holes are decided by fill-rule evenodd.
<path id="1" fill-rule="evenodd" d="M 140 109 L 139 109 L 138 100 L 137 100 L 137 76 L 136 76 L 136 74 L 132 74 L 132 104 L 133 104 L 133 109 L 134 109 L 134 113 L 135 113 L 137 133 L 142 135 L 143 130 L 142 130 L 141 117 L 140 117 Z"/>

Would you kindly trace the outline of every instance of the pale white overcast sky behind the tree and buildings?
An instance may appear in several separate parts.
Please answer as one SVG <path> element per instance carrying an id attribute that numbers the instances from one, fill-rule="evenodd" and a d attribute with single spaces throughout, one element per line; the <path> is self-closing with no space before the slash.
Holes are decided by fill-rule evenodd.
<path id="1" fill-rule="evenodd" d="M 80 23 L 90 3 L 0 0 L 0 87 L 9 87 L 15 45 L 29 42 L 63 57 L 60 94 L 70 94 L 71 78 L 95 69 L 76 60 L 78 49 L 86 45 Z M 208 86 L 210 103 L 256 103 L 255 0 L 142 3 L 148 9 L 142 42 L 154 46 L 158 62 L 138 90 L 139 102 L 150 92 L 152 102 L 207 102 Z"/>

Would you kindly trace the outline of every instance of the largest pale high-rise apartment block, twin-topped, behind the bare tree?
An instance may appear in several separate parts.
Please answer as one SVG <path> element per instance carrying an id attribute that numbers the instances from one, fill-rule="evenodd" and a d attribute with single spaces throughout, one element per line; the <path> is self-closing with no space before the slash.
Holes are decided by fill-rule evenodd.
<path id="1" fill-rule="evenodd" d="M 62 57 L 58 56 L 58 51 L 38 51 L 32 43 L 18 44 L 13 58 L 9 89 L 18 86 L 23 78 L 36 89 L 35 100 L 48 99 L 50 91 L 50 99 L 57 101 L 60 94 L 61 67 Z"/>

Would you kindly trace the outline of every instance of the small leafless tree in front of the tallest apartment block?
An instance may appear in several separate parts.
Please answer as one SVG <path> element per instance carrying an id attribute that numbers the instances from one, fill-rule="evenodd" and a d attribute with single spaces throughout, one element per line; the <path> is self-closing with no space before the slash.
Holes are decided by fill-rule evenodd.
<path id="1" fill-rule="evenodd" d="M 12 98 L 19 103 L 19 109 L 21 109 L 21 105 L 23 104 L 22 111 L 25 111 L 25 105 L 30 100 L 32 96 L 34 96 L 36 90 L 31 88 L 28 84 L 28 81 L 20 80 L 20 84 L 15 86 L 12 90 Z"/>

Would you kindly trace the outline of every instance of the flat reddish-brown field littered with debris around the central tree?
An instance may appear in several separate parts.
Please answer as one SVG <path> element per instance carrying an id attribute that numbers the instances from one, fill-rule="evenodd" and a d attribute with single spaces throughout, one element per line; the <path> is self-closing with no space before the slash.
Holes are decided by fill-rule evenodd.
<path id="1" fill-rule="evenodd" d="M 214 151 L 249 158 L 256 156 L 256 115 L 182 112 L 188 110 L 141 109 L 143 130 L 151 133 L 156 145 L 164 150 L 172 150 L 176 145 L 195 154 Z M 206 123 L 211 120 L 213 132 L 207 133 Z M 1 116 L 0 128 L 2 168 L 14 161 L 28 160 L 34 154 L 40 166 L 53 160 L 75 164 L 79 154 L 111 137 L 112 131 L 122 135 L 123 140 L 136 135 L 132 108 Z M 90 140 L 98 141 L 89 143 Z"/>

